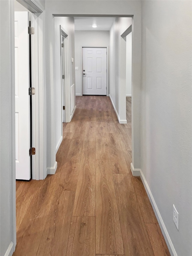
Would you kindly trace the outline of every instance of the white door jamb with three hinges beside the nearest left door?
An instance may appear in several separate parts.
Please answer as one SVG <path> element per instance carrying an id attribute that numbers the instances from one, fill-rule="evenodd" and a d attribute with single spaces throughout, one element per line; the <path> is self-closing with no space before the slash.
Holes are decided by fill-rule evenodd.
<path id="1" fill-rule="evenodd" d="M 32 37 L 32 86 L 35 87 L 35 95 L 32 96 L 33 113 L 33 145 L 35 155 L 32 158 L 32 178 L 45 179 L 46 170 L 46 113 L 44 92 L 44 40 L 43 40 L 44 14 L 32 13 L 31 26 L 35 34 Z"/>

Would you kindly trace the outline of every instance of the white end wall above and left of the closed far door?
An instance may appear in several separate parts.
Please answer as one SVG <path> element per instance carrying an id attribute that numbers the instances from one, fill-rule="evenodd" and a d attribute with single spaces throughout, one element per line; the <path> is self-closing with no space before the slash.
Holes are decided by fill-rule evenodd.
<path id="1" fill-rule="evenodd" d="M 82 95 L 82 46 L 109 46 L 109 31 L 75 31 L 76 95 Z"/>

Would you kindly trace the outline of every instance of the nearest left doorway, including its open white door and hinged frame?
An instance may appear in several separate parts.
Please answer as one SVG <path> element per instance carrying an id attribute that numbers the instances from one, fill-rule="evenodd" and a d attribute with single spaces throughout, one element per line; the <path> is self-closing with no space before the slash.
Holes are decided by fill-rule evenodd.
<path id="1" fill-rule="evenodd" d="M 21 111 L 19 113 L 16 109 L 15 114 L 16 164 L 23 158 L 28 166 L 21 167 L 27 176 L 16 175 L 16 179 L 19 180 L 44 179 L 47 175 L 43 68 L 45 42 L 42 14 L 44 9 L 41 5 L 36 7 L 30 4 L 26 4 L 25 1 L 14 1 L 13 10 L 17 16 L 14 22 L 15 33 L 12 35 L 15 48 L 15 103 L 20 100 Z M 25 16 L 22 17 L 24 20 L 18 21 L 21 16 Z M 22 112 L 25 116 L 21 115 Z"/>

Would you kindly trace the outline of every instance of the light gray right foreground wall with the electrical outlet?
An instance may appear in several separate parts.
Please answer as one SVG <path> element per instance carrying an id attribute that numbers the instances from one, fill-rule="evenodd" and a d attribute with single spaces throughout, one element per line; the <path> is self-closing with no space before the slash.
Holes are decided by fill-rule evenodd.
<path id="1" fill-rule="evenodd" d="M 191 1 L 142 1 L 141 24 L 141 170 L 177 255 L 191 256 Z"/>

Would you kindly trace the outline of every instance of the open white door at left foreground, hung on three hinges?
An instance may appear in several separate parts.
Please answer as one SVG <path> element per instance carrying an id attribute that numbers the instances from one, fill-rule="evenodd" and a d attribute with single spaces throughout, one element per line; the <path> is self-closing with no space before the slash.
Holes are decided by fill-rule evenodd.
<path id="1" fill-rule="evenodd" d="M 29 13 L 15 12 L 16 179 L 29 180 Z"/>

